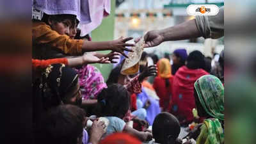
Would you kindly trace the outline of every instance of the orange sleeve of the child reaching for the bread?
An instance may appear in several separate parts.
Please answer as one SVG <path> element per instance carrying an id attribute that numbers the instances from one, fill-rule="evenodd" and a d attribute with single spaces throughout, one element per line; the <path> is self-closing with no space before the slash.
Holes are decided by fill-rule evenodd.
<path id="1" fill-rule="evenodd" d="M 44 22 L 33 22 L 32 36 L 35 44 L 56 47 L 65 54 L 82 54 L 84 40 L 72 40 L 67 35 L 60 35 Z"/>

